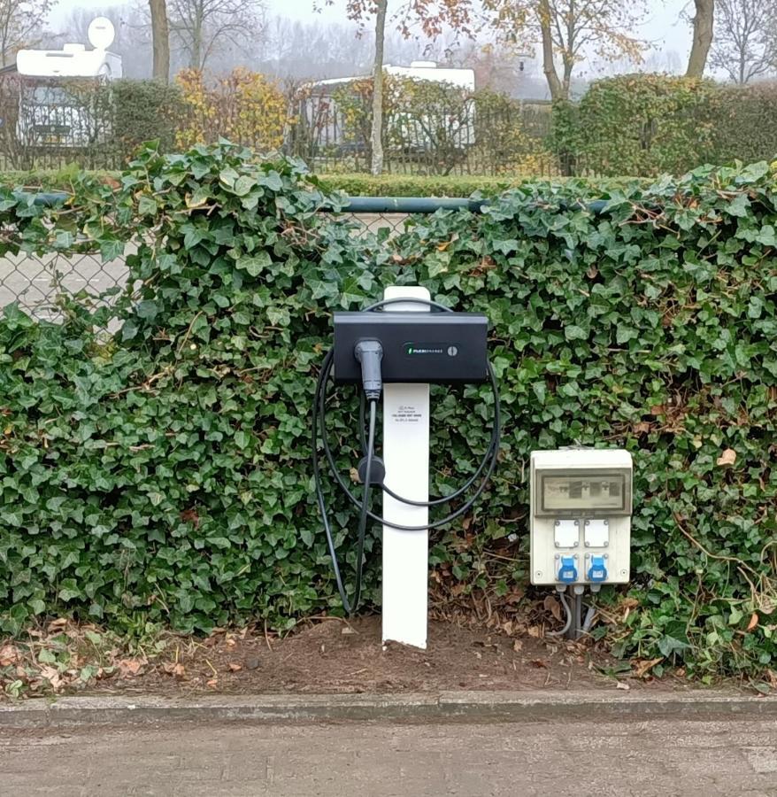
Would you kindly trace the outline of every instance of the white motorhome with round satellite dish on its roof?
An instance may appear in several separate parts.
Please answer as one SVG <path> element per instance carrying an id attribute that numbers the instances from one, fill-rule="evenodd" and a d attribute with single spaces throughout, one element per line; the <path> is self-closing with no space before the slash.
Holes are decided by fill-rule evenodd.
<path id="1" fill-rule="evenodd" d="M 19 50 L 21 76 L 19 143 L 30 147 L 86 147 L 101 143 L 110 120 L 96 106 L 96 85 L 121 77 L 121 56 L 109 52 L 113 41 L 110 19 L 93 19 L 89 43 L 65 44 L 62 50 Z"/>

